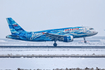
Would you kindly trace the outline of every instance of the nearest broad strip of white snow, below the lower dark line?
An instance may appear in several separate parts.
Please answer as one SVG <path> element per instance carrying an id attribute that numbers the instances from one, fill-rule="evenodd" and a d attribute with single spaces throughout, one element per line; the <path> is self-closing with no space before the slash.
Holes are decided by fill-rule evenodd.
<path id="1" fill-rule="evenodd" d="M 0 58 L 0 69 L 105 68 L 105 58 Z"/>

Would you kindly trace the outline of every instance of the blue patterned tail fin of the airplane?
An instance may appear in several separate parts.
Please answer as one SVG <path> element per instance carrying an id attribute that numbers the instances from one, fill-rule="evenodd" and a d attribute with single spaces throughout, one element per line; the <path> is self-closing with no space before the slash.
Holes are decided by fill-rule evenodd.
<path id="1" fill-rule="evenodd" d="M 6 18 L 6 19 L 12 35 L 18 35 L 22 32 L 25 32 L 25 30 L 21 28 L 12 18 Z"/>

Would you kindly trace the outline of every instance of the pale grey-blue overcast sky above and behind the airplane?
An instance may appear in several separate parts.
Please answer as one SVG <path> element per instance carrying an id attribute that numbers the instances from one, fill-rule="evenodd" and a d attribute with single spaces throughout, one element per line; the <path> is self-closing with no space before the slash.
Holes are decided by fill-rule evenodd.
<path id="1" fill-rule="evenodd" d="M 105 0 L 0 0 L 0 38 L 12 17 L 26 31 L 89 26 L 105 36 Z"/>

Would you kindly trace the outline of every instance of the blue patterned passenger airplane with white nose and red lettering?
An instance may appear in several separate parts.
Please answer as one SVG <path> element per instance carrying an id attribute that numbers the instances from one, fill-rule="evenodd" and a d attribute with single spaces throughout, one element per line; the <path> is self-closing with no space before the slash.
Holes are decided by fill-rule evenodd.
<path id="1" fill-rule="evenodd" d="M 56 41 L 72 42 L 74 38 L 84 38 L 96 35 L 98 32 L 89 27 L 67 27 L 59 29 L 50 29 L 37 32 L 27 32 L 21 28 L 12 18 L 7 18 L 11 35 L 6 38 L 24 40 L 24 41 L 54 41 L 53 46 L 57 46 Z"/>

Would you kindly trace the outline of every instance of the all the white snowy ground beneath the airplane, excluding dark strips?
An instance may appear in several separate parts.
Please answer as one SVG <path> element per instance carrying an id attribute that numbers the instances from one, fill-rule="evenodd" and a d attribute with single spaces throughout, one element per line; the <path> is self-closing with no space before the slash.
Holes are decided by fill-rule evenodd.
<path id="1" fill-rule="evenodd" d="M 88 39 L 70 43 L 57 42 L 58 46 L 105 46 L 105 39 Z M 52 46 L 53 42 L 25 42 L 18 40 L 0 39 L 0 46 Z M 96 54 L 105 55 L 105 48 L 0 48 L 2 54 Z M 56 69 L 56 68 L 105 68 L 105 58 L 0 58 L 0 70 L 17 68 L 23 69 Z"/>

